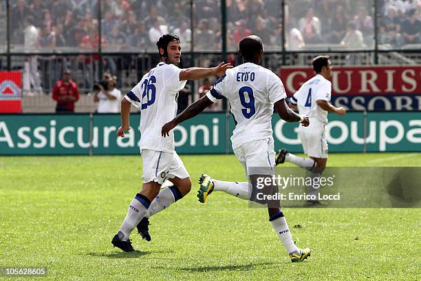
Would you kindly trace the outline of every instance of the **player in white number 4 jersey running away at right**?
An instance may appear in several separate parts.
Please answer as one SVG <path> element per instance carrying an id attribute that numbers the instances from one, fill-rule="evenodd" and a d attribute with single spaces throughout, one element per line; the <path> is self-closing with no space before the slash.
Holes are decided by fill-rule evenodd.
<path id="1" fill-rule="evenodd" d="M 285 161 L 310 171 L 310 176 L 320 177 L 327 163 L 326 125 L 327 113 L 345 115 L 344 107 L 335 107 L 330 103 L 332 83 L 332 66 L 329 56 L 316 56 L 313 59 L 313 70 L 316 76 L 305 82 L 290 99 L 290 107 L 305 114 L 312 121 L 308 127 L 299 127 L 298 136 L 304 153 L 310 158 L 302 158 L 281 149 L 277 155 L 277 165 Z M 310 194 L 317 189 L 310 187 Z M 319 205 L 319 200 L 308 200 L 309 205 Z"/>

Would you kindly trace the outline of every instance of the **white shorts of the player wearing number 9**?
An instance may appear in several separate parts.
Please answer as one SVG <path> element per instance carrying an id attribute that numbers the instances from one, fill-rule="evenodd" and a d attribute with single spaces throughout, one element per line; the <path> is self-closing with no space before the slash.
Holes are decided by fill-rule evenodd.
<path id="1" fill-rule="evenodd" d="M 275 152 L 273 138 L 250 141 L 234 149 L 234 154 L 243 165 L 246 176 L 273 175 Z"/>

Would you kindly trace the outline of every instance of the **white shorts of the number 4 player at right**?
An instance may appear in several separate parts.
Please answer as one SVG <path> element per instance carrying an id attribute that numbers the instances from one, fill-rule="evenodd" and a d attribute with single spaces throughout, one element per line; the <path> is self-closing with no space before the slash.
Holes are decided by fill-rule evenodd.
<path id="1" fill-rule="evenodd" d="M 298 136 L 304 153 L 310 157 L 327 158 L 326 124 L 310 121 L 308 127 L 299 127 Z"/>

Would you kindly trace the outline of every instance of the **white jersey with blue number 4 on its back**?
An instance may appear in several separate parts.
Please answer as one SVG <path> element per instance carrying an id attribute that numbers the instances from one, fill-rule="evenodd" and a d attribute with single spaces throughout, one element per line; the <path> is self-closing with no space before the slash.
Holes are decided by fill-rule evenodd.
<path id="1" fill-rule="evenodd" d="M 316 101 L 330 101 L 331 93 L 332 83 L 321 76 L 321 74 L 317 74 L 301 85 L 290 99 L 290 102 L 293 105 L 297 105 L 299 114 L 310 117 L 310 123 L 312 119 L 327 123 L 327 111 L 322 110 Z"/>

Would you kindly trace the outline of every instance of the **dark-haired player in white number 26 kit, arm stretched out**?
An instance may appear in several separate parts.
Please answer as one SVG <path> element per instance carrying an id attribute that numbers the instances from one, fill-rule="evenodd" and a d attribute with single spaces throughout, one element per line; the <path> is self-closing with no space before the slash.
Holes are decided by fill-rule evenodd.
<path id="1" fill-rule="evenodd" d="M 135 227 L 138 227 L 142 238 L 151 240 L 148 218 L 167 209 L 191 189 L 190 177 L 174 150 L 173 134 L 170 138 L 161 136 L 161 127 L 177 114 L 178 91 L 184 88 L 188 79 L 222 76 L 232 67 L 229 63 L 221 63 L 212 68 L 180 69 L 181 45 L 177 35 L 164 34 L 156 44 L 160 63 L 145 74 L 121 101 L 121 127 L 117 135 L 123 138 L 125 131 L 131 129 L 131 105 L 140 107 L 140 152 L 143 160 L 142 190 L 131 201 L 127 216 L 111 241 L 114 247 L 123 251 L 135 251 L 129 239 Z M 173 186 L 160 189 L 165 180 Z"/>

